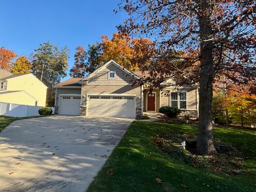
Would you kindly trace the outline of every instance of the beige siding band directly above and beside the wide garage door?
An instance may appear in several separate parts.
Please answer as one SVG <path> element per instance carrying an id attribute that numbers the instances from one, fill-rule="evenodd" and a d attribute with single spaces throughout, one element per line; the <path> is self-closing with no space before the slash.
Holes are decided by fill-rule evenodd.
<path id="1" fill-rule="evenodd" d="M 141 86 L 139 85 L 83 85 L 82 95 L 86 94 L 136 94 L 137 108 L 141 108 Z M 82 98 L 82 106 L 86 105 L 86 97 Z"/>

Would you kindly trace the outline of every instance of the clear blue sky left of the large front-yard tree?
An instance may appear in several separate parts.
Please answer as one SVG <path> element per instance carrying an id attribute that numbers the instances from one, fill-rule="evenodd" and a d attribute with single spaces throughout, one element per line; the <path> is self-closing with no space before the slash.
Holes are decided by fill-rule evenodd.
<path id="1" fill-rule="evenodd" d="M 69 69 L 75 48 L 112 36 L 126 13 L 114 14 L 118 0 L 7 0 L 0 6 L 0 47 L 18 55 L 34 52 L 50 41 L 70 50 Z M 69 78 L 69 76 L 64 79 Z"/>

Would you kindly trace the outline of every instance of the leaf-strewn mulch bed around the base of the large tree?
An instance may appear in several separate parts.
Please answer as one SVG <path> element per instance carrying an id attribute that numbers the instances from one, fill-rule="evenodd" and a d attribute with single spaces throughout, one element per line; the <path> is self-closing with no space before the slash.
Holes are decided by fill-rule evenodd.
<path id="1" fill-rule="evenodd" d="M 154 141 L 165 153 L 193 167 L 234 175 L 241 172 L 244 164 L 243 154 L 229 143 L 214 140 L 218 154 L 202 156 L 197 154 L 195 135 L 158 134 L 154 137 Z M 186 141 L 185 149 L 181 145 L 183 141 Z"/>

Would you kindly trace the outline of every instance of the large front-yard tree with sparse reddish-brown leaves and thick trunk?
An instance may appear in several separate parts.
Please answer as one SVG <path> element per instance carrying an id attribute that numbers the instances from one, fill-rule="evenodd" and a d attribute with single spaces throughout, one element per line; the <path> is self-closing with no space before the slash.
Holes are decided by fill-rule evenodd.
<path id="1" fill-rule="evenodd" d="M 157 45 L 157 57 L 147 65 L 151 74 L 148 81 L 157 86 L 172 77 L 177 84 L 199 83 L 199 154 L 216 153 L 212 130 L 214 77 L 225 74 L 234 84 L 255 87 L 255 4 L 252 0 L 123 0 L 119 4 L 130 15 L 118 26 L 121 33 L 146 36 Z M 185 54 L 173 54 L 180 50 Z"/>

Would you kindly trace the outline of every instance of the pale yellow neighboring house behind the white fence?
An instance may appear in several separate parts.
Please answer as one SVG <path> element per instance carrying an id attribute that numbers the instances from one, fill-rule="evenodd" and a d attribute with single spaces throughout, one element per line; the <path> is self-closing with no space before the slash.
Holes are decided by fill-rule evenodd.
<path id="1" fill-rule="evenodd" d="M 11 74 L 0 69 L 0 102 L 45 106 L 45 86 L 33 74 Z"/>

